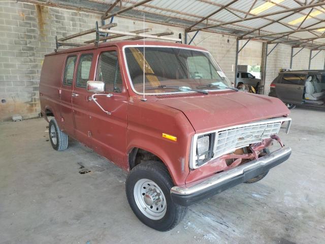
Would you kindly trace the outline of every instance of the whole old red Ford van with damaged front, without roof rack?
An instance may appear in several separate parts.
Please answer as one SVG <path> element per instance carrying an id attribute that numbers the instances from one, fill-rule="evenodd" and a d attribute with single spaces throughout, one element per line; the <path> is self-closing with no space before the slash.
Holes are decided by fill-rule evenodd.
<path id="1" fill-rule="evenodd" d="M 159 231 L 291 153 L 277 136 L 282 124 L 289 130 L 286 106 L 238 91 L 199 47 L 116 41 L 48 54 L 40 102 L 53 148 L 71 137 L 128 171 L 129 205 Z"/>

